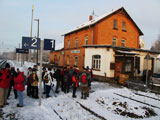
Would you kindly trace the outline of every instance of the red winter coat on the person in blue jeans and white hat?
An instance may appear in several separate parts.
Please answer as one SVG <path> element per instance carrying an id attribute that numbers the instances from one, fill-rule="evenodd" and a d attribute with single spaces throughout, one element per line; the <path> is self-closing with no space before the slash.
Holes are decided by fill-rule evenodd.
<path id="1" fill-rule="evenodd" d="M 14 89 L 18 90 L 18 91 L 24 91 L 24 85 L 23 85 L 23 81 L 24 81 L 24 77 L 23 77 L 24 73 L 18 73 L 18 76 L 14 78 Z"/>

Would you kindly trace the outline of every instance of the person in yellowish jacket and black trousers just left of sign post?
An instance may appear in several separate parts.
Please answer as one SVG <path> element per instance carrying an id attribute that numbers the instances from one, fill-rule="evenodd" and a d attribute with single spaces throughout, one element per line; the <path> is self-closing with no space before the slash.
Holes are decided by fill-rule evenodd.
<path id="1" fill-rule="evenodd" d="M 38 99 L 38 76 L 37 76 L 37 70 L 33 69 L 32 70 L 32 84 L 31 84 L 31 89 L 32 89 L 32 98 Z"/>

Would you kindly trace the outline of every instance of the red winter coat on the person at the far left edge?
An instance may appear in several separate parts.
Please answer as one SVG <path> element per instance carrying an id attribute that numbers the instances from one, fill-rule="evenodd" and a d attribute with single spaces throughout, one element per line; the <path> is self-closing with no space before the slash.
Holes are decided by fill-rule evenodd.
<path id="1" fill-rule="evenodd" d="M 11 81 L 11 74 L 9 70 L 1 70 L 0 88 L 9 88 Z"/>

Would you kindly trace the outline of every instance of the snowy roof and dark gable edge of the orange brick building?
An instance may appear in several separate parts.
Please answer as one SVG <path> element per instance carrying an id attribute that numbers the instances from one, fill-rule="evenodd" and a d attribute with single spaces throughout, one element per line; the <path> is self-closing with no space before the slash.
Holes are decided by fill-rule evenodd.
<path id="1" fill-rule="evenodd" d="M 114 11 L 112 11 L 110 13 L 107 13 L 107 14 L 104 14 L 102 16 L 99 16 L 99 17 L 97 17 L 97 18 L 95 18 L 95 19 L 93 19 L 91 21 L 85 22 L 85 23 L 75 27 L 74 29 L 66 32 L 64 35 L 71 34 L 73 32 L 76 32 L 78 30 L 84 29 L 86 27 L 93 26 L 93 25 L 101 22 L 102 20 L 104 20 L 104 19 L 106 19 L 106 18 L 108 18 L 108 17 L 110 17 L 110 16 L 112 16 L 114 14 L 117 14 L 117 13 L 125 15 L 126 17 L 128 17 L 132 21 L 132 23 L 135 25 L 135 27 L 138 29 L 139 34 L 143 35 L 143 32 L 140 30 L 140 28 L 137 26 L 137 24 L 133 21 L 133 19 L 130 17 L 130 15 L 127 13 L 127 11 L 124 9 L 124 7 L 121 7 L 121 8 L 119 8 L 117 10 L 114 10 Z"/>

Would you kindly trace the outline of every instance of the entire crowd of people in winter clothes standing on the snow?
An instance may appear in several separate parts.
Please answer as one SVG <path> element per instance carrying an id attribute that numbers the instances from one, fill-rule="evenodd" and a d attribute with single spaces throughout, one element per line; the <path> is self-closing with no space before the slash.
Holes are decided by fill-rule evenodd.
<path id="1" fill-rule="evenodd" d="M 39 78 L 37 75 L 37 65 L 33 68 L 29 67 L 27 75 L 24 75 L 24 69 L 22 67 L 15 70 L 14 67 L 10 68 L 10 65 L 6 63 L 4 69 L 0 71 L 0 108 L 8 105 L 7 99 L 9 99 L 10 92 L 13 88 L 15 99 L 18 98 L 17 107 L 23 107 L 23 91 L 25 90 L 27 96 L 38 99 L 39 95 Z M 80 87 L 81 98 L 86 99 L 89 97 L 89 90 L 91 88 L 91 81 L 93 75 L 92 70 L 83 68 L 80 71 L 78 68 L 73 69 L 70 67 L 63 68 L 45 68 L 43 67 L 42 82 L 43 82 L 43 94 L 46 98 L 51 97 L 50 91 L 58 94 L 61 91 L 69 93 L 72 89 L 72 97 L 76 98 L 76 90 Z M 54 85 L 55 84 L 55 85 Z M 53 89 L 55 87 L 55 90 Z"/>

